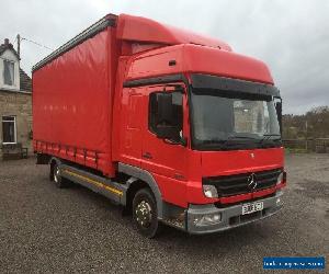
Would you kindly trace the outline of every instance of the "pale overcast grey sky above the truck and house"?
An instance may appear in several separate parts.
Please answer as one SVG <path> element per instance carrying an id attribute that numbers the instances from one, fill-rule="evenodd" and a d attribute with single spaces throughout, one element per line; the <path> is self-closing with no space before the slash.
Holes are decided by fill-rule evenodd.
<path id="1" fill-rule="evenodd" d="M 285 113 L 329 105 L 328 0 L 1 0 L 0 39 L 18 33 L 57 48 L 106 13 L 129 13 L 206 34 L 265 61 Z M 15 45 L 15 44 L 14 44 Z M 50 50 L 26 41 L 21 67 Z"/>

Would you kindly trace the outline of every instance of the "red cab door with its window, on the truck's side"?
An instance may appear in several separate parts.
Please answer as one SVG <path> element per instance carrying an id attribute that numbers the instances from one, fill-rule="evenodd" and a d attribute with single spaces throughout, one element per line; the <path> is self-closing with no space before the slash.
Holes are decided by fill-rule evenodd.
<path id="1" fill-rule="evenodd" d="M 160 117 L 163 112 L 163 105 L 159 104 L 160 94 L 171 94 L 169 98 L 172 102 L 172 115 L 167 115 L 168 117 L 166 114 Z M 179 203 L 182 198 L 180 195 L 185 195 L 186 178 L 186 146 L 183 136 L 183 105 L 186 103 L 184 89 L 168 85 L 149 87 L 145 90 L 144 100 L 148 115 L 143 134 L 141 168 L 152 173 L 164 199 Z M 166 126 L 171 126 L 171 138 L 160 137 L 163 134 L 160 128 Z"/>

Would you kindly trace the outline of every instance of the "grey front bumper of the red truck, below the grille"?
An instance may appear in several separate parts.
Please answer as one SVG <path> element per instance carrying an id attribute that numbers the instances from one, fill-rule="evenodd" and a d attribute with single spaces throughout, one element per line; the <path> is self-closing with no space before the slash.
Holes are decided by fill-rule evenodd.
<path id="1" fill-rule="evenodd" d="M 275 196 L 258 199 L 263 202 L 263 209 L 252 214 L 242 215 L 242 205 L 232 205 L 225 208 L 218 208 L 214 204 L 209 205 L 190 205 L 186 212 L 186 230 L 190 233 L 212 233 L 242 226 L 256 220 L 260 220 L 276 214 L 282 208 L 282 191 L 276 192 Z M 220 221 L 211 225 L 197 226 L 194 220 L 212 214 L 220 214 Z"/>

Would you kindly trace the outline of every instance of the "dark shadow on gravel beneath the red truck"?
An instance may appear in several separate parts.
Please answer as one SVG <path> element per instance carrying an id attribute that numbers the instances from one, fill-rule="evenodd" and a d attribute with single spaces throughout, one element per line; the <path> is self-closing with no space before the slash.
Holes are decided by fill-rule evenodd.
<path id="1" fill-rule="evenodd" d="M 263 224 L 263 221 L 211 235 L 189 235 L 184 231 L 162 225 L 159 236 L 149 240 L 139 236 L 134 229 L 132 216 L 122 215 L 122 207 L 112 204 L 107 198 L 80 185 L 73 185 L 70 191 L 79 192 L 78 194 L 81 198 L 86 199 L 86 203 L 91 203 L 93 206 L 105 210 L 106 215 L 102 218 L 102 221 L 106 222 L 115 218 L 120 226 L 125 226 L 125 230 L 128 230 L 128 233 L 133 238 L 138 238 L 138 241 L 145 244 L 151 243 L 160 246 L 168 252 L 171 252 L 171 250 L 175 252 L 177 250 L 181 250 L 185 254 L 201 253 L 206 248 L 207 253 L 216 252 L 217 255 L 220 255 L 220 253 L 225 254 L 227 249 L 239 250 L 245 246 L 252 246 L 254 242 L 263 242 L 263 244 L 265 244 L 266 239 L 275 237 L 277 232 L 271 224 Z M 109 217 L 109 215 L 111 215 L 111 217 Z M 126 227 L 128 227 L 128 229 L 126 229 Z"/>

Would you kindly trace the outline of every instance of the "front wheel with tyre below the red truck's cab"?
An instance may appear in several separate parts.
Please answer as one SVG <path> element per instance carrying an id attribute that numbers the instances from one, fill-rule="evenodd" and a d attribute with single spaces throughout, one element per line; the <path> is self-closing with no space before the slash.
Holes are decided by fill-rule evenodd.
<path id="1" fill-rule="evenodd" d="M 133 221 L 139 233 L 154 238 L 159 228 L 158 209 L 149 189 L 139 190 L 133 199 Z"/>

